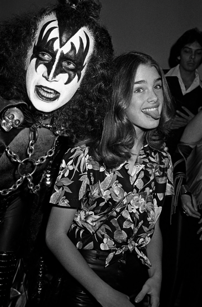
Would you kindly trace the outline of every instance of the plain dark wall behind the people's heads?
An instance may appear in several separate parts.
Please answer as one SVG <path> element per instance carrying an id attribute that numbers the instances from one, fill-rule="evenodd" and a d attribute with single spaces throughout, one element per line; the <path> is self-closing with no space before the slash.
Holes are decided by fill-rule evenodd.
<path id="1" fill-rule="evenodd" d="M 115 53 L 143 51 L 169 68 L 170 47 L 187 29 L 202 30 L 202 0 L 101 0 Z M 0 0 L 0 19 L 55 0 Z M 200 68 L 202 76 L 202 68 Z"/>

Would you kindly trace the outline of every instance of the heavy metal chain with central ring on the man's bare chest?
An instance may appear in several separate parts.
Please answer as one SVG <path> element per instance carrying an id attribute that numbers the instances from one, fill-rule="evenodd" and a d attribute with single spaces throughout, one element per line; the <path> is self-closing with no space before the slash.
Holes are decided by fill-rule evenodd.
<path id="1" fill-rule="evenodd" d="M 8 195 L 10 192 L 16 191 L 17 188 L 23 183 L 24 179 L 27 178 L 28 180 L 28 188 L 30 189 L 31 193 L 37 193 L 40 190 L 40 185 L 43 181 L 43 178 L 46 175 L 46 171 L 43 171 L 42 177 L 39 181 L 39 183 L 37 185 L 34 185 L 33 181 L 33 177 L 32 175 L 36 172 L 37 166 L 39 164 L 43 164 L 48 157 L 52 157 L 55 153 L 55 149 L 57 146 L 57 140 L 59 135 L 55 136 L 54 139 L 54 143 L 52 145 L 52 147 L 47 151 L 47 153 L 43 156 L 40 156 L 38 159 L 33 159 L 32 155 L 35 152 L 35 144 L 37 142 L 38 139 L 38 128 L 41 127 L 45 127 L 50 129 L 50 131 L 53 131 L 54 134 L 58 134 L 58 125 L 55 122 L 55 119 L 53 119 L 53 124 L 47 124 L 47 123 L 43 123 L 41 122 L 43 119 L 47 118 L 46 116 L 40 116 L 36 122 L 29 128 L 30 132 L 29 132 L 29 144 L 28 144 L 28 149 L 27 149 L 27 154 L 28 154 L 28 158 L 25 158 L 23 160 L 21 160 L 19 158 L 19 156 L 14 153 L 10 146 L 8 146 L 6 148 L 6 153 L 9 156 L 10 160 L 13 162 L 17 162 L 18 166 L 17 166 L 17 173 L 19 174 L 20 178 L 17 179 L 17 181 L 10 187 L 10 188 L 6 188 L 6 189 L 2 189 L 0 190 L 0 194 L 3 196 Z M 21 173 L 21 165 L 24 165 L 24 162 L 27 161 L 29 163 L 32 163 L 34 165 L 34 169 L 31 173 Z"/>

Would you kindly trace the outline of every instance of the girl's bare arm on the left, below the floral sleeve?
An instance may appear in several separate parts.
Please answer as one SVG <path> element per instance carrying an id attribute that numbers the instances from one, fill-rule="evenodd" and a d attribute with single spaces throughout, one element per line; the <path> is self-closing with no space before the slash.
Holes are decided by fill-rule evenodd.
<path id="1" fill-rule="evenodd" d="M 128 296 L 114 290 L 95 274 L 68 238 L 67 233 L 76 211 L 76 208 L 52 208 L 46 231 L 47 246 L 69 274 L 103 307 L 134 307 Z"/>

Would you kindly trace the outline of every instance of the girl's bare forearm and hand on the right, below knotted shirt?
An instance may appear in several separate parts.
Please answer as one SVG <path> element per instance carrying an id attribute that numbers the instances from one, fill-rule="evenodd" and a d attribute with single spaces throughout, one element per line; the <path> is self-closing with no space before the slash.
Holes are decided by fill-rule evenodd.
<path id="1" fill-rule="evenodd" d="M 155 224 L 151 241 L 147 245 L 147 256 L 151 263 L 151 267 L 148 270 L 149 278 L 135 298 L 135 302 L 140 302 L 148 294 L 150 298 L 149 306 L 158 307 L 162 280 L 162 235 L 159 227 L 159 219 Z"/>

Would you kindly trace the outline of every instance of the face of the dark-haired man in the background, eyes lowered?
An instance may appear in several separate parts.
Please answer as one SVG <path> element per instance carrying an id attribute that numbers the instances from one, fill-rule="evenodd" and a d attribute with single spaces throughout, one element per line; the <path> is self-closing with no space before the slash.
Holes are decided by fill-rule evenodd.
<path id="1" fill-rule="evenodd" d="M 195 41 L 192 44 L 186 44 L 180 52 L 178 60 L 180 60 L 180 66 L 185 71 L 195 71 L 200 65 L 202 59 L 202 47 Z"/>

